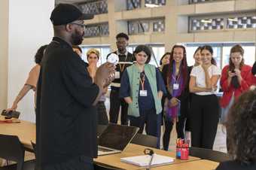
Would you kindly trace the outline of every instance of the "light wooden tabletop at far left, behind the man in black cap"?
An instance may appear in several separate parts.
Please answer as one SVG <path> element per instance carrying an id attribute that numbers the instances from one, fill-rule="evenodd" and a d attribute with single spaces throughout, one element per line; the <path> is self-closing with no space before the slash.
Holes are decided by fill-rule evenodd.
<path id="1" fill-rule="evenodd" d="M 25 148 L 32 149 L 31 141 L 35 141 L 35 123 L 24 120 L 20 120 L 20 123 L 0 123 L 0 134 L 17 135 Z"/>

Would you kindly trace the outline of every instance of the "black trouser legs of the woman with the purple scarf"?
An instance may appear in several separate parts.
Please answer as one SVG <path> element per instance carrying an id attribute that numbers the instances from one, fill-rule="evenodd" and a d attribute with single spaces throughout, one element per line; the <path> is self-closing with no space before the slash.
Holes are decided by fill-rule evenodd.
<path id="1" fill-rule="evenodd" d="M 178 117 L 178 122 L 176 123 L 176 132 L 178 138 L 184 138 L 184 125 L 185 125 L 186 117 L 184 114 Z M 163 132 L 163 150 L 168 150 L 169 147 L 169 138 L 172 132 L 173 122 L 172 120 L 167 120 L 164 117 L 164 125 L 165 130 Z"/>

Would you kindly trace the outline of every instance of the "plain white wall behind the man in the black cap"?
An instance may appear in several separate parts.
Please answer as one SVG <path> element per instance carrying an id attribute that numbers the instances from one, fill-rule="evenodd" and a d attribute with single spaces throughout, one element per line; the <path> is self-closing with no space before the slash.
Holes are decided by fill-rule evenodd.
<path id="1" fill-rule="evenodd" d="M 53 37 L 50 23 L 53 8 L 54 0 L 9 0 L 8 107 L 35 65 L 38 47 L 48 44 Z M 22 120 L 35 121 L 33 95 L 31 90 L 18 105 Z"/>

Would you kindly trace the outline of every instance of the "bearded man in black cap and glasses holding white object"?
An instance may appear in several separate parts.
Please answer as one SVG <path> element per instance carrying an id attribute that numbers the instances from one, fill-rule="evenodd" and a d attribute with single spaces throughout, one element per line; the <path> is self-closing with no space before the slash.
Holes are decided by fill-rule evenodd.
<path id="1" fill-rule="evenodd" d="M 101 65 L 94 83 L 72 50 L 84 36 L 84 15 L 74 5 L 53 10 L 54 37 L 41 62 L 36 107 L 36 168 L 93 169 L 97 156 L 96 103 L 111 82 L 114 65 Z M 107 78 L 106 78 L 107 77 Z"/>

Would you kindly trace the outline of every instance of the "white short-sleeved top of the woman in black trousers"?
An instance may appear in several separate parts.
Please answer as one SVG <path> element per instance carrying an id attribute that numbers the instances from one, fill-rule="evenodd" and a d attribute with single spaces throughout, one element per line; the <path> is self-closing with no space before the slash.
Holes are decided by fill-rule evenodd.
<path id="1" fill-rule="evenodd" d="M 213 75 L 221 75 L 221 69 L 216 65 L 211 65 L 208 68 L 209 77 L 211 78 Z M 197 87 L 206 87 L 206 76 L 205 71 L 203 71 L 203 67 L 198 65 L 197 67 L 192 68 L 190 76 L 196 77 L 196 85 Z M 215 92 L 199 92 L 197 95 L 212 95 Z"/>

